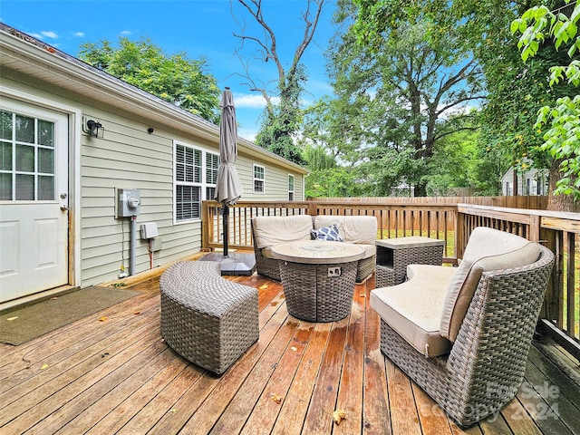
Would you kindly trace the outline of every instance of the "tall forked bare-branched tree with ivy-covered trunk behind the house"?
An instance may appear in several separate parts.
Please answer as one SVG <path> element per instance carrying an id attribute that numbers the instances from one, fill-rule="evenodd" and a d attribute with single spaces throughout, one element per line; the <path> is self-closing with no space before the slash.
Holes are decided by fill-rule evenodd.
<path id="1" fill-rule="evenodd" d="M 246 42 L 253 43 L 257 47 L 255 59 L 265 64 L 272 61 L 277 71 L 276 91 L 280 98 L 279 104 L 273 102 L 266 84 L 256 82 L 250 72 L 249 63 L 244 62 L 238 53 L 244 68 L 244 73 L 238 75 L 247 81 L 243 84 L 246 84 L 250 91 L 260 92 L 266 101 L 266 113 L 257 134 L 256 143 L 299 164 L 304 161 L 300 150 L 295 145 L 294 137 L 300 121 L 300 96 L 306 82 L 306 71 L 301 60 L 306 48 L 313 40 L 325 1 L 308 0 L 306 2 L 306 9 L 302 13 L 304 34 L 295 48 L 292 61 L 286 68 L 279 52 L 275 31 L 267 23 L 262 0 L 238 0 L 239 5 L 243 6 L 263 31 L 261 36 L 246 34 L 244 29 L 241 34 L 234 34 L 241 41 L 240 50 L 244 48 Z"/>

